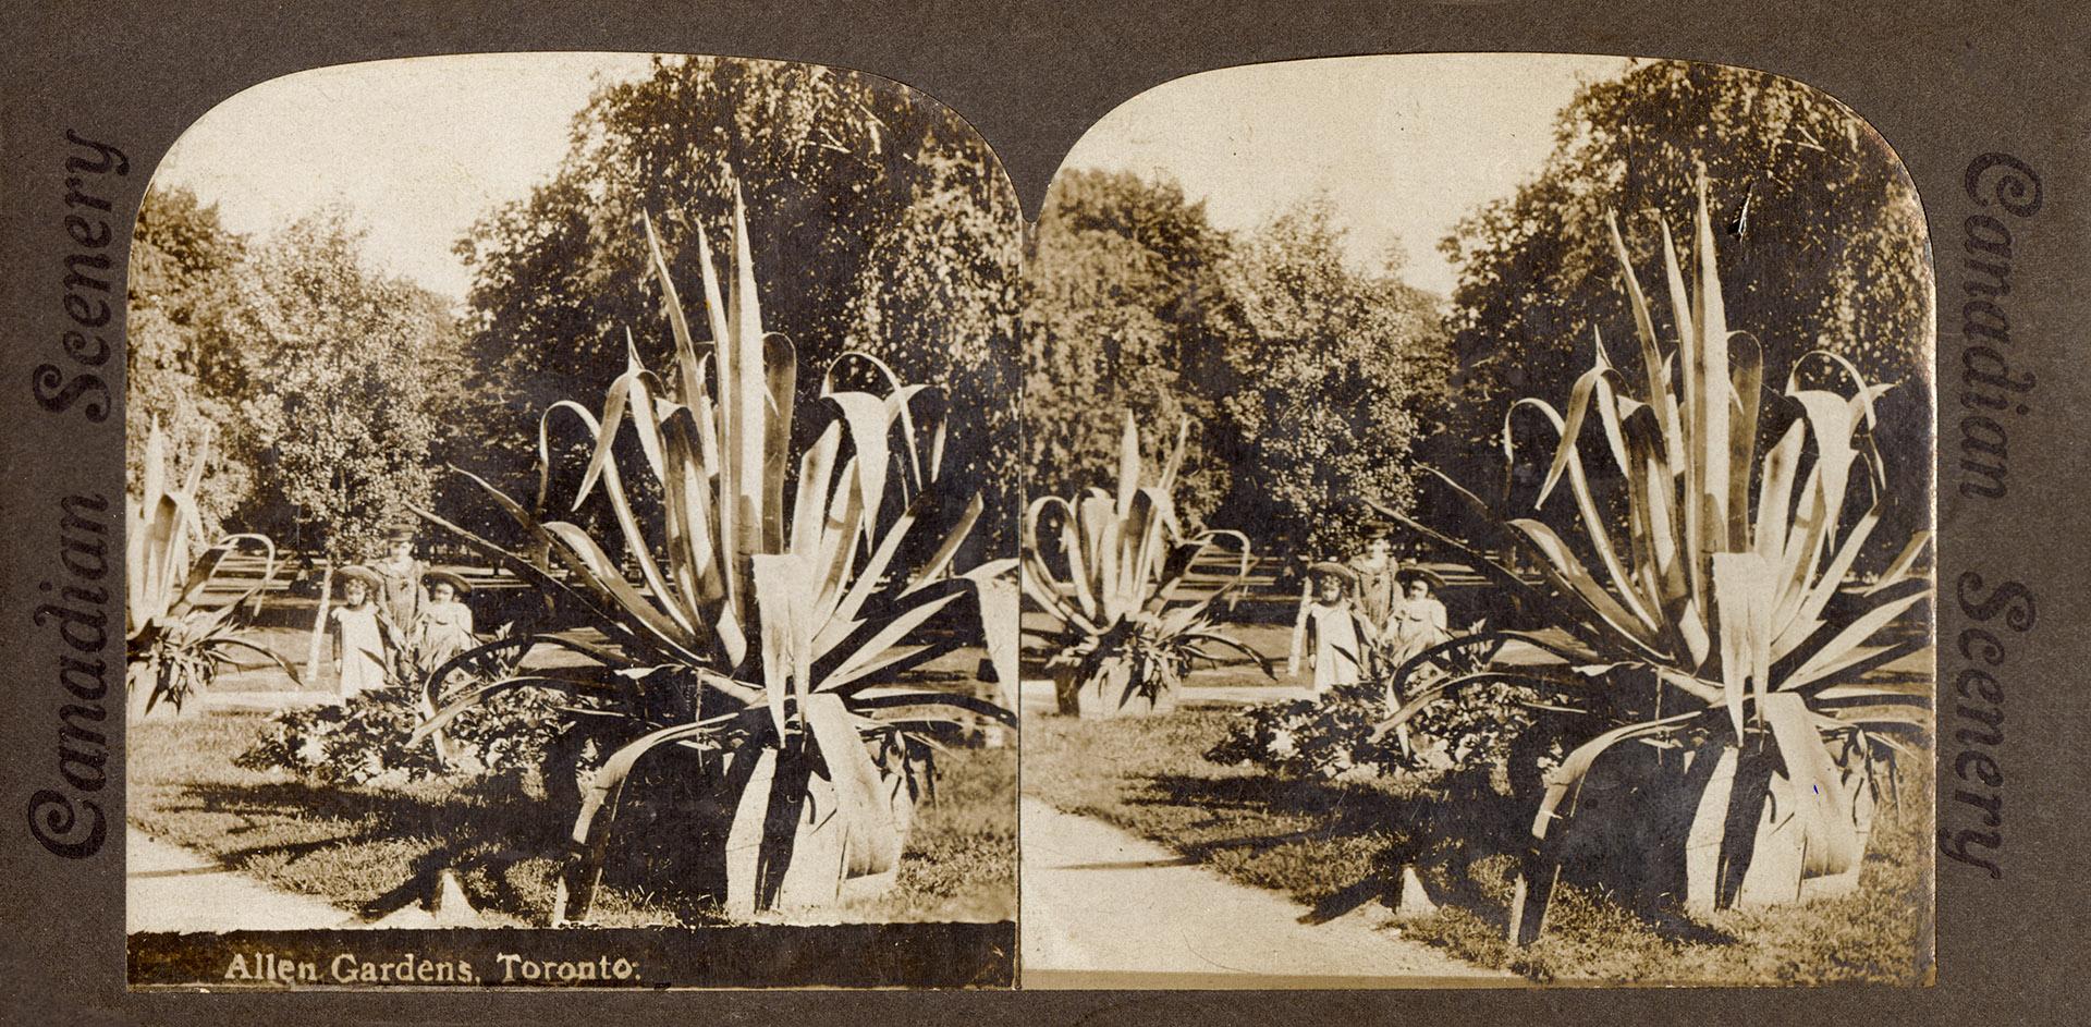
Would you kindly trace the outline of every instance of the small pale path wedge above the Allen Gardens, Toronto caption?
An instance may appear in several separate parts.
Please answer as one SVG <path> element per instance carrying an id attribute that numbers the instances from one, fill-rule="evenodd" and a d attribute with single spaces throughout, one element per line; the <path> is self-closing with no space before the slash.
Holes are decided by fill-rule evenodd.
<path id="1" fill-rule="evenodd" d="M 347 910 L 268 887 L 199 851 L 128 830 L 123 841 L 128 931 L 320 931 L 360 927 Z"/>

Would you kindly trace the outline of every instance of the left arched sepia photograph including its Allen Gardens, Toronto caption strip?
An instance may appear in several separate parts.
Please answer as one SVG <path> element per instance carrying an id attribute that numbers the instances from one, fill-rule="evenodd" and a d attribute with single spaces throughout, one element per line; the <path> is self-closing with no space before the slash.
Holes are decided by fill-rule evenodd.
<path id="1" fill-rule="evenodd" d="M 987 144 L 667 54 L 305 71 L 130 253 L 134 987 L 1010 987 Z"/>

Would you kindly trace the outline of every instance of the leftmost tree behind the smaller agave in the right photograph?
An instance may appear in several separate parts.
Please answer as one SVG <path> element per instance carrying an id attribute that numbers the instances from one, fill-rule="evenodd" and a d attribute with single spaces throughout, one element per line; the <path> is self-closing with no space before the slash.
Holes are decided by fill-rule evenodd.
<path id="1" fill-rule="evenodd" d="M 1209 333 L 1225 232 L 1169 178 L 1073 169 L 1054 178 L 1025 266 L 1025 471 L 1033 494 L 1102 485 L 1129 410 L 1146 458 L 1192 420 L 1179 510 L 1213 515 L 1230 469 L 1215 397 L 1227 368 Z"/>

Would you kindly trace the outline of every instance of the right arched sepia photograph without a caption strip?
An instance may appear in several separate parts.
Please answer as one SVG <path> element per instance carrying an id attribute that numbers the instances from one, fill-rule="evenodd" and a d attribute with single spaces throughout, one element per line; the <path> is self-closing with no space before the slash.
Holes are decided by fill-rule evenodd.
<path id="1" fill-rule="evenodd" d="M 1932 983 L 1928 253 L 1740 67 L 1098 121 L 1025 255 L 1022 987 Z"/>

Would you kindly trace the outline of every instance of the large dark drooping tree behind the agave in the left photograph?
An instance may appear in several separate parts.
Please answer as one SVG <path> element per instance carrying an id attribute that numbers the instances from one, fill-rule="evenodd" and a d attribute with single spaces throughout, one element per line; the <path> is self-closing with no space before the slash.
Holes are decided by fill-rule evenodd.
<path id="1" fill-rule="evenodd" d="M 1006 251 L 1022 228 L 993 167 L 956 115 L 855 71 L 677 56 L 600 90 L 575 117 L 552 180 L 458 245 L 473 268 L 473 349 L 506 404 L 479 466 L 525 471 L 537 412 L 600 395 L 623 368 L 627 330 L 661 364 L 669 333 L 648 282 L 644 220 L 661 232 L 690 316 L 703 318 L 690 289 L 696 234 L 723 241 L 736 186 L 763 320 L 799 347 L 803 400 L 836 353 L 868 345 L 953 387 L 953 441 L 1014 446 L 995 414 L 968 425 L 972 402 L 1002 385 L 993 349 L 1014 349 L 1014 337 L 991 335 L 1010 324 Z M 983 245 L 985 255 L 964 249 Z M 1014 450 L 974 458 L 1008 464 Z"/>

